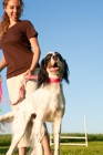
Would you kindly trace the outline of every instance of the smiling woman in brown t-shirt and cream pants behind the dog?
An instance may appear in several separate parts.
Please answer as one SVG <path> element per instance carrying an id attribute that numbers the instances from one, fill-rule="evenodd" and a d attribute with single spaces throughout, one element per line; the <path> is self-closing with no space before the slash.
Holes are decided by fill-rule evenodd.
<path id="1" fill-rule="evenodd" d="M 38 43 L 38 32 L 28 20 L 20 20 L 23 11 L 22 0 L 3 0 L 2 21 L 0 22 L 0 49 L 3 56 L 0 62 L 0 71 L 7 66 L 7 85 L 11 103 L 16 102 L 22 80 L 27 75 L 38 74 L 40 46 Z M 32 50 L 31 50 L 32 46 Z M 37 82 L 28 81 L 25 93 L 21 101 L 29 96 L 37 89 Z M 12 110 L 19 106 L 12 105 Z M 29 135 L 30 136 L 30 133 Z M 28 137 L 29 138 L 29 137 Z M 18 147 L 19 155 L 25 155 L 28 138 L 22 137 Z M 44 155 L 51 155 L 48 135 L 42 140 Z"/>

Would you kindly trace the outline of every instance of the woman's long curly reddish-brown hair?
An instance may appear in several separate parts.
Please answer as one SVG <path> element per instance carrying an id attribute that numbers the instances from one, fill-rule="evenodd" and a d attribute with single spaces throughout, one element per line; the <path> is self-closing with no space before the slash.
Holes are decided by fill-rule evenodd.
<path id="1" fill-rule="evenodd" d="M 2 2 L 3 10 L 8 6 L 9 1 L 10 0 L 3 0 Z M 19 0 L 19 1 L 20 1 L 20 7 L 21 7 L 21 12 L 20 12 L 20 17 L 21 17 L 21 13 L 23 12 L 23 1 L 22 0 Z M 2 37 L 6 34 L 9 24 L 10 24 L 9 17 L 7 12 L 4 11 L 2 16 L 2 20 L 0 21 L 0 39 L 2 39 Z"/>

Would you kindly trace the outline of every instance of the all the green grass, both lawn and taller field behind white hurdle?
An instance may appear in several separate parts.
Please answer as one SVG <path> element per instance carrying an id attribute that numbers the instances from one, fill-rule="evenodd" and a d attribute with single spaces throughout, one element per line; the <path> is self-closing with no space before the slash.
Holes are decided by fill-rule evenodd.
<path id="1" fill-rule="evenodd" d="M 62 134 L 68 136 L 83 136 L 81 133 Z M 78 140 L 62 140 L 66 143 L 84 143 Z M 60 155 L 103 155 L 103 134 L 87 134 L 89 146 L 60 146 Z M 6 155 L 11 142 L 11 135 L 0 135 L 0 155 Z M 51 146 L 52 152 L 53 146 Z M 29 148 L 28 148 L 29 151 Z M 13 153 L 18 155 L 18 151 Z M 28 155 L 28 154 L 27 154 Z"/>

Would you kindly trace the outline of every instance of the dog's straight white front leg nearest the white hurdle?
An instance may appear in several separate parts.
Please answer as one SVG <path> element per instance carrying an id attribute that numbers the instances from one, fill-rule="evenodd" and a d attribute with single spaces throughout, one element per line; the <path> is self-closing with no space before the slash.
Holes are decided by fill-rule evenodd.
<path id="1" fill-rule="evenodd" d="M 61 118 L 53 122 L 54 155 L 60 155 Z"/>

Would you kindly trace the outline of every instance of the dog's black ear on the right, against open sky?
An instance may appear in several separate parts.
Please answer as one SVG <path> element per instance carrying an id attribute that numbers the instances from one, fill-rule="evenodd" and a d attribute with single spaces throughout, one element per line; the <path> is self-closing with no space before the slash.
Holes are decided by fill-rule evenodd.
<path id="1" fill-rule="evenodd" d="M 65 60 L 63 60 L 64 62 L 64 73 L 63 73 L 63 80 L 66 82 L 66 83 L 70 83 L 69 81 L 69 75 L 70 75 L 70 71 L 69 71 L 69 66 L 68 66 L 68 63 Z"/>

